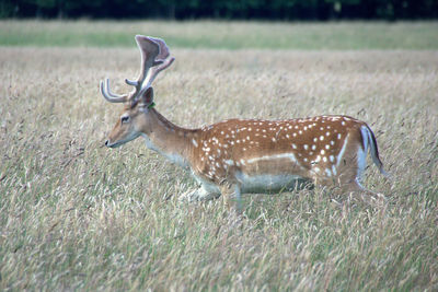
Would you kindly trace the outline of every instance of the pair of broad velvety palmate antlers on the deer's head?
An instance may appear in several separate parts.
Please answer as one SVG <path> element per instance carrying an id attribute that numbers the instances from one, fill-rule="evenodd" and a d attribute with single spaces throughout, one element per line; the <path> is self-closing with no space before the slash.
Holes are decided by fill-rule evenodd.
<path id="1" fill-rule="evenodd" d="M 141 52 L 141 71 L 136 81 L 126 79 L 128 85 L 135 87 L 129 94 L 115 94 L 110 90 L 110 79 L 101 81 L 101 93 L 111 103 L 137 103 L 139 97 L 151 86 L 157 75 L 175 60 L 164 40 L 150 36 L 136 35 L 137 46 Z"/>

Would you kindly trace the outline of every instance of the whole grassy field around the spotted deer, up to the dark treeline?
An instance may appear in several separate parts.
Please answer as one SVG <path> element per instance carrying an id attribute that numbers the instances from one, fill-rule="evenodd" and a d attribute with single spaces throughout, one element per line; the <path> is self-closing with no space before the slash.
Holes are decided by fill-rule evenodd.
<path id="1" fill-rule="evenodd" d="M 101 97 L 99 81 L 127 90 L 123 80 L 139 63 L 134 34 L 155 23 L 95 24 L 119 38 L 110 47 L 113 40 L 82 36 L 58 43 L 62 30 L 87 35 L 90 25 L 0 22 L 0 43 L 14 45 L 0 47 L 0 290 L 438 290 L 438 46 L 417 35 L 437 32 L 436 23 L 367 24 L 364 34 L 376 42 L 368 46 L 356 36 L 307 39 L 358 23 L 234 30 L 208 22 L 219 38 L 230 33 L 231 45 L 219 48 L 247 48 L 239 50 L 206 49 L 219 44 L 206 23 L 157 24 L 151 34 L 175 47 L 175 63 L 154 85 L 157 109 L 170 120 L 198 127 L 347 114 L 377 135 L 393 179 L 370 166 L 364 184 L 385 194 L 387 206 L 357 206 L 323 189 L 245 196 L 239 224 L 220 199 L 180 203 L 195 188 L 192 177 L 142 141 L 103 147 L 120 107 Z M 239 43 L 251 27 L 275 25 L 297 39 Z M 403 37 L 389 33 L 399 26 Z M 49 40 L 27 39 L 32 32 Z"/>

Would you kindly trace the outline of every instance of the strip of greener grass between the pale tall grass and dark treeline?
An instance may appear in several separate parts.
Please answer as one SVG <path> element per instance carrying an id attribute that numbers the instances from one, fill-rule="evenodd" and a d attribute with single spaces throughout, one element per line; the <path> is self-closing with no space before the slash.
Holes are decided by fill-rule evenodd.
<path id="1" fill-rule="evenodd" d="M 0 45 L 131 47 L 146 34 L 181 48 L 437 49 L 437 22 L 0 21 Z"/>

